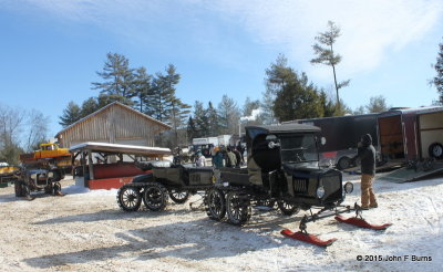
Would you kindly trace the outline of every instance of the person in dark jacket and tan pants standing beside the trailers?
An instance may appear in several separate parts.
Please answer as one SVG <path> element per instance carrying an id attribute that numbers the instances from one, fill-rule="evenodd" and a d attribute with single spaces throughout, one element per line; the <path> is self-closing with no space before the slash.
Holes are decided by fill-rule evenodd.
<path id="1" fill-rule="evenodd" d="M 361 137 L 358 154 L 351 161 L 354 164 L 358 158 L 361 161 L 361 208 L 377 208 L 379 205 L 372 190 L 375 176 L 375 148 L 372 146 L 370 134 Z"/>

